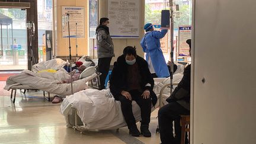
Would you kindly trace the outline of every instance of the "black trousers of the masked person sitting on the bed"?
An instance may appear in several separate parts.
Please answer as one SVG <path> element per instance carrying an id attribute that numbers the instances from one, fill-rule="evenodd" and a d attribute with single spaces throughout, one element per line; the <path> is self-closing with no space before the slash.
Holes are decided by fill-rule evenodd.
<path id="1" fill-rule="evenodd" d="M 142 125 L 149 125 L 151 118 L 151 98 L 144 99 L 141 95 L 142 92 L 137 90 L 129 91 L 130 95 L 132 95 L 132 100 L 136 101 L 136 103 L 140 107 Z M 123 113 L 124 119 L 126 120 L 128 129 L 133 129 L 136 127 L 135 117 L 133 116 L 132 111 L 132 101 L 124 97 L 123 95 L 119 95 L 119 100 L 121 102 L 121 111 Z"/>

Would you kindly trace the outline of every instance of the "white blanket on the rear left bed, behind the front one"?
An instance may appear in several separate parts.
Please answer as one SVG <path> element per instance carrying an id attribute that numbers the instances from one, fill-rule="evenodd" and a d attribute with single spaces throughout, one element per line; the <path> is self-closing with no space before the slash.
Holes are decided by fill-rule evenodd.
<path id="1" fill-rule="evenodd" d="M 46 62 L 40 62 L 37 63 L 36 65 L 32 66 L 32 71 L 33 72 L 39 72 L 45 69 L 55 69 L 59 70 L 62 68 L 64 65 L 67 65 L 67 62 L 62 60 L 62 59 L 51 59 L 47 60 Z"/>

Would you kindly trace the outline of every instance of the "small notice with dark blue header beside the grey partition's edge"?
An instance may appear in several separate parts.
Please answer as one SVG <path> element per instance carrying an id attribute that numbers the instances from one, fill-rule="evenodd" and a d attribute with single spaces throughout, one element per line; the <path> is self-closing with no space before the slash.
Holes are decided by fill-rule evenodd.
<path id="1" fill-rule="evenodd" d="M 188 39 L 191 39 L 192 30 L 191 26 L 179 27 L 179 42 L 178 42 L 178 56 L 189 56 L 190 47 L 186 43 Z"/>

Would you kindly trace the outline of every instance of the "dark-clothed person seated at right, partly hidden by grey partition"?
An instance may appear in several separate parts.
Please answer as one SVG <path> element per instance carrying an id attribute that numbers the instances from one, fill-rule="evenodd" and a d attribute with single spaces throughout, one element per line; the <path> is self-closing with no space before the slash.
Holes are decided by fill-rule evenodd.
<path id="1" fill-rule="evenodd" d="M 187 44 L 191 49 L 191 39 Z M 158 111 L 158 124 L 162 144 L 180 144 L 181 126 L 180 115 L 190 114 L 190 75 L 191 65 L 184 69 L 184 75 L 178 87 L 174 89 L 171 96 L 167 98 L 167 105 L 161 107 Z M 175 137 L 173 135 L 172 121 L 174 121 Z M 187 138 L 185 143 L 188 143 Z"/>

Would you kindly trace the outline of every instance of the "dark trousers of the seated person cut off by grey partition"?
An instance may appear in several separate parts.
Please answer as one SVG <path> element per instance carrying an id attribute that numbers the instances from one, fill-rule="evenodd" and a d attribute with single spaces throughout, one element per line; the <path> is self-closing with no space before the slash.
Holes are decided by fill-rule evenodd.
<path id="1" fill-rule="evenodd" d="M 162 144 L 180 144 L 181 126 L 180 115 L 188 115 L 190 111 L 185 109 L 177 102 L 171 102 L 158 111 L 158 125 Z M 173 135 L 172 121 L 174 121 L 175 137 Z M 186 138 L 186 143 L 188 140 Z"/>

